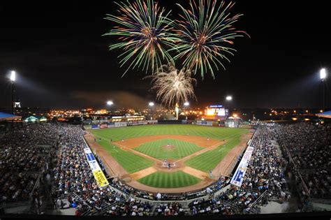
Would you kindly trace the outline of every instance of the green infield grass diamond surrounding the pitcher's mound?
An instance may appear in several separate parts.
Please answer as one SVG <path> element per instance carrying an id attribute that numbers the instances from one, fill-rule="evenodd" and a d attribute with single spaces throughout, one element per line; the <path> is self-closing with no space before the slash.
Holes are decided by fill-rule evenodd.
<path id="1" fill-rule="evenodd" d="M 165 149 L 163 146 L 168 145 L 168 143 L 169 145 L 175 146 L 175 149 Z M 204 148 L 190 142 L 169 138 L 147 142 L 139 147 L 135 147 L 134 149 L 138 152 L 142 152 L 143 154 L 153 156 L 156 159 L 163 160 L 181 159 L 184 156 L 189 156 L 190 154 L 198 152 Z"/>

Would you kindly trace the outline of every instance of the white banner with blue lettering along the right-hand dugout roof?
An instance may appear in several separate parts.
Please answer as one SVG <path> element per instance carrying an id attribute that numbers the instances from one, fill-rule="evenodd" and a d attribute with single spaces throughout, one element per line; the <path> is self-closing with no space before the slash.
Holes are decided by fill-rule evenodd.
<path id="1" fill-rule="evenodd" d="M 230 184 L 233 184 L 238 187 L 242 186 L 242 180 L 244 180 L 244 175 L 246 173 L 247 166 L 249 160 L 251 159 L 251 154 L 253 153 L 253 150 L 253 147 L 247 147 L 246 152 L 244 153 L 244 156 L 242 156 L 242 160 L 240 161 L 237 170 L 235 170 L 235 175 L 233 175 Z"/>

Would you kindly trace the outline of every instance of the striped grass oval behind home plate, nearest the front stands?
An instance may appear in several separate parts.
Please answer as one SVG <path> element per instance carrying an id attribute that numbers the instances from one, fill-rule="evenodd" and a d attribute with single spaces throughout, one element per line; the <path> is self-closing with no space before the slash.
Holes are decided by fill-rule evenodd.
<path id="1" fill-rule="evenodd" d="M 156 172 L 146 177 L 142 177 L 137 181 L 141 184 L 156 188 L 179 188 L 197 184 L 201 179 L 182 171 L 177 171 L 175 173 Z"/>

